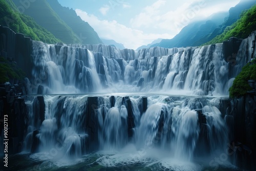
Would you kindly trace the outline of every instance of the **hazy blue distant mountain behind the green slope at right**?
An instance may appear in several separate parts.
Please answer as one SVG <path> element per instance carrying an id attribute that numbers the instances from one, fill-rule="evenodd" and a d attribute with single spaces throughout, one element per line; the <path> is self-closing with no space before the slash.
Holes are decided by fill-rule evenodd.
<path id="1" fill-rule="evenodd" d="M 230 8 L 228 13 L 217 13 L 206 20 L 191 23 L 184 27 L 174 38 L 163 39 L 151 47 L 200 46 L 223 33 L 227 26 L 232 25 L 239 19 L 243 10 L 249 9 L 253 4 L 256 4 L 255 0 L 242 0 L 238 5 Z"/>

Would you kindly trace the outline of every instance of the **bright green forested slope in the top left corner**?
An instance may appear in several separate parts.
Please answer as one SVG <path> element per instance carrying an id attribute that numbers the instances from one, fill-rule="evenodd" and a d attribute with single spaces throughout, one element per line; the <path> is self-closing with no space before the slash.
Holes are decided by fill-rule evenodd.
<path id="1" fill-rule="evenodd" d="M 16 33 L 23 33 L 33 40 L 48 43 L 60 41 L 48 30 L 36 24 L 33 18 L 20 13 L 11 0 L 0 0 L 0 25 L 9 27 Z"/>

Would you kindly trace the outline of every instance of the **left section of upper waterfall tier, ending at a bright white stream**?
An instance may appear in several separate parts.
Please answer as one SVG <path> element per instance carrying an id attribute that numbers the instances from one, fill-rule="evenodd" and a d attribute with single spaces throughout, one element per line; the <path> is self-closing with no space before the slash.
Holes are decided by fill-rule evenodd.
<path id="1" fill-rule="evenodd" d="M 44 94 L 95 92 L 101 89 L 91 51 L 33 41 L 32 83 L 45 87 Z M 37 92 L 36 88 L 34 90 Z"/>

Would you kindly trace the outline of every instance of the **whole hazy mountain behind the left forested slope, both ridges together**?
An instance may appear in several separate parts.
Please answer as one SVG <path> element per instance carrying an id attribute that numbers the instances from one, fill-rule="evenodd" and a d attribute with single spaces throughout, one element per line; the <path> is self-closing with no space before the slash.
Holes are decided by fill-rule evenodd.
<path id="1" fill-rule="evenodd" d="M 10 0 L 6 1 L 9 1 L 9 4 L 11 2 Z M 12 2 L 16 8 L 22 9 L 21 1 L 13 0 Z M 87 22 L 77 16 L 73 9 L 62 7 L 57 0 L 30 2 L 19 13 L 32 17 L 38 25 L 52 33 L 59 40 L 57 42 L 64 42 L 65 44 L 102 44 L 98 34 Z M 33 37 L 31 38 L 33 39 Z"/>

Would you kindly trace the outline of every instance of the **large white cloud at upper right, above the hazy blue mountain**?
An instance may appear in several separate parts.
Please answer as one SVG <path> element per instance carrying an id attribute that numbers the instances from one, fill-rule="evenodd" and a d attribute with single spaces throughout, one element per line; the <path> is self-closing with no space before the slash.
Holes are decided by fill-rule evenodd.
<path id="1" fill-rule="evenodd" d="M 178 34 L 186 25 L 199 19 L 205 19 L 213 13 L 228 11 L 239 0 L 194 0 L 177 2 L 158 0 L 142 9 L 142 12 L 130 19 L 134 29 L 151 32 Z"/>

